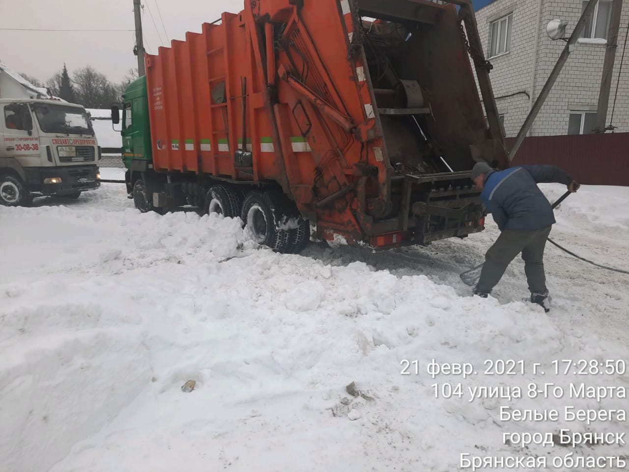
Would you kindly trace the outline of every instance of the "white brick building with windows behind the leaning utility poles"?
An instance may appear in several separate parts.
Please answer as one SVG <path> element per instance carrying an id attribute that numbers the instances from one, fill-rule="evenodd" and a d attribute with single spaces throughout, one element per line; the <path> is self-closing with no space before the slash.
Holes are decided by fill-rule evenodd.
<path id="1" fill-rule="evenodd" d="M 571 53 L 530 136 L 590 132 L 598 105 L 611 3 L 599 0 L 594 23 L 586 26 L 584 38 Z M 565 42 L 548 38 L 548 22 L 567 21 L 568 38 L 586 4 L 581 0 L 496 0 L 476 12 L 485 55 L 494 65 L 491 83 L 507 137 L 518 133 L 565 47 Z M 615 132 L 629 132 L 629 50 L 622 70 L 620 67 L 628 25 L 629 1 L 623 0 L 606 120 L 609 125 L 616 97 Z"/>

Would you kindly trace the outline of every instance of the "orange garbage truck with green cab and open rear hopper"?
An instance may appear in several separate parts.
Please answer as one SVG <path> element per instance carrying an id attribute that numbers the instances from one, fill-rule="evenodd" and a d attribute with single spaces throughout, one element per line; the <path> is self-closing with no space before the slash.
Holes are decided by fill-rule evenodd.
<path id="1" fill-rule="evenodd" d="M 145 62 L 123 104 L 143 211 L 241 216 L 280 252 L 484 228 L 470 169 L 507 158 L 469 0 L 247 0 Z"/>

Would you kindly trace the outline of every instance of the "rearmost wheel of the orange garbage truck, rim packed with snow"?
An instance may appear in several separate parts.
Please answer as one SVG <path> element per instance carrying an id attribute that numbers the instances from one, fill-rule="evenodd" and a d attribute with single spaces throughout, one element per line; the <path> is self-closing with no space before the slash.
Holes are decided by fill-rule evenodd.
<path id="1" fill-rule="evenodd" d="M 251 192 L 242 206 L 242 220 L 251 238 L 258 244 L 269 246 L 276 252 L 286 252 L 289 232 L 279 230 L 279 208 L 269 192 Z"/>

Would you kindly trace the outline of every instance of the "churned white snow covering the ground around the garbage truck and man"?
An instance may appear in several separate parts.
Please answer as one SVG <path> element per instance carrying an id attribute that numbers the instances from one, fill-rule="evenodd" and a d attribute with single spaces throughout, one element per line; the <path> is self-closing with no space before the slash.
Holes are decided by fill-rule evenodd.
<path id="1" fill-rule="evenodd" d="M 564 191 L 544 189 L 550 199 Z M 629 188 L 582 188 L 556 213 L 557 242 L 629 267 Z M 628 374 L 564 375 L 560 364 L 555 375 L 551 364 L 629 363 L 629 276 L 550 246 L 549 315 L 521 301 L 520 260 L 495 298 L 471 297 L 459 273 L 482 262 L 498 234 L 488 225 L 426 248 L 311 244 L 282 256 L 248 240 L 238 220 L 141 215 L 121 184 L 0 207 L 0 471 L 416 472 L 457 469 L 462 453 L 549 465 L 569 452 L 629 454 L 504 444 L 503 433 L 629 433 L 624 419 L 587 425 L 563 410 L 628 408 L 569 398 L 571 383 L 626 389 Z M 433 379 L 432 359 L 477 374 Z M 486 375 L 486 359 L 521 359 L 526 371 Z M 184 393 L 188 380 L 196 388 Z M 532 382 L 565 394 L 529 398 Z M 435 383 L 441 393 L 460 383 L 462 398 L 435 398 Z M 481 386 L 520 387 L 523 398 L 470 402 L 467 389 Z M 502 421 L 501 406 L 561 417 Z"/>

